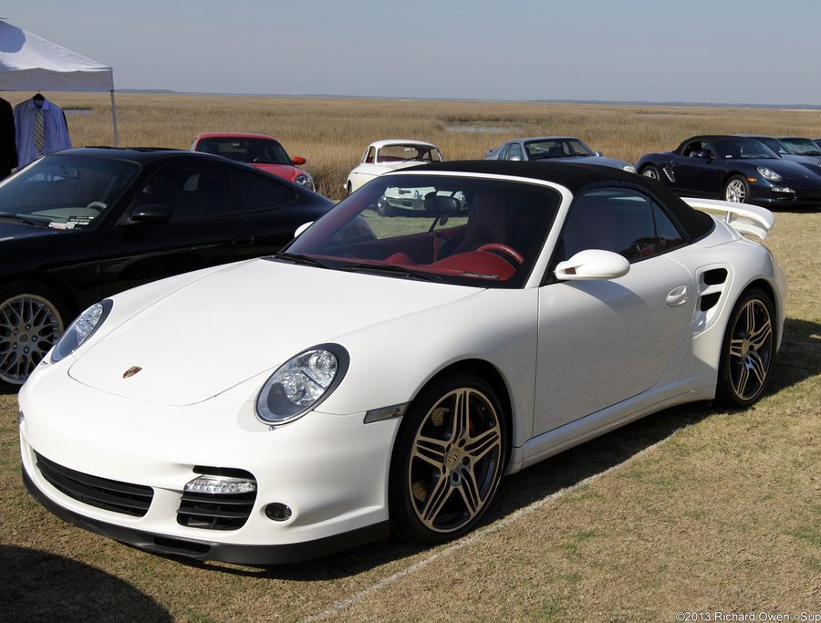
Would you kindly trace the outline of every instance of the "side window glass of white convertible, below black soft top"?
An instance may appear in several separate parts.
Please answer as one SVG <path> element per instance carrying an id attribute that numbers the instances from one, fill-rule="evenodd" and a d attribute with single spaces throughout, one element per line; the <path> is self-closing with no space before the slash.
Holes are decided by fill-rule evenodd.
<path id="1" fill-rule="evenodd" d="M 561 238 L 563 259 L 586 249 L 604 249 L 636 262 L 684 244 L 659 204 L 642 192 L 595 189 L 570 206 Z"/>

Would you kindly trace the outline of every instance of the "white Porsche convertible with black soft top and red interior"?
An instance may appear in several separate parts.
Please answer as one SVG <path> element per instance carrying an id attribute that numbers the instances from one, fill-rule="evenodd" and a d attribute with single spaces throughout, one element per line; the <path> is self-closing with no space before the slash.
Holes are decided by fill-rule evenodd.
<path id="1" fill-rule="evenodd" d="M 435 189 L 428 216 L 368 209 L 390 187 Z M 285 252 L 89 307 L 20 391 L 26 486 L 99 534 L 244 564 L 463 535 L 503 474 L 762 396 L 785 276 L 743 234 L 773 215 L 686 201 L 577 164 L 381 176 Z"/>

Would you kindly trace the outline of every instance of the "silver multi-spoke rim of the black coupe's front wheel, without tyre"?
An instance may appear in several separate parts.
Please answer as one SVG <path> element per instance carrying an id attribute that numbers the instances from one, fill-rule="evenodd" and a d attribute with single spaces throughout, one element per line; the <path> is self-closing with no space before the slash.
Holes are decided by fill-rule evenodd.
<path id="1" fill-rule="evenodd" d="M 0 380 L 22 385 L 63 333 L 57 308 L 42 296 L 21 294 L 0 304 Z"/>

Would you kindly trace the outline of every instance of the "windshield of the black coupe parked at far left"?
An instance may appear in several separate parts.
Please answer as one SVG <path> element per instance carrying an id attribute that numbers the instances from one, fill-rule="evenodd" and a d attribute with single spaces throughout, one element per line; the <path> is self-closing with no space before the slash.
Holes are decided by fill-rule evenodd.
<path id="1" fill-rule="evenodd" d="M 54 229 L 89 227 L 139 173 L 135 162 L 49 155 L 0 183 L 0 214 Z"/>

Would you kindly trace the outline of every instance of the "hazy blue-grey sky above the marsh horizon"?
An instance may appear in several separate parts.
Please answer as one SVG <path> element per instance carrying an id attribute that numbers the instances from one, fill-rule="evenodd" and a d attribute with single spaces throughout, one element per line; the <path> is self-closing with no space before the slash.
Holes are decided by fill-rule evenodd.
<path id="1" fill-rule="evenodd" d="M 821 104 L 821 0 L 36 0 L 116 88 Z"/>

